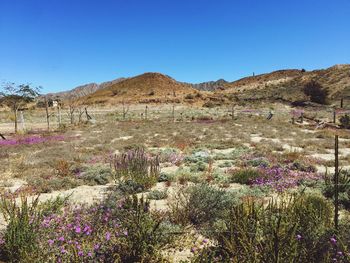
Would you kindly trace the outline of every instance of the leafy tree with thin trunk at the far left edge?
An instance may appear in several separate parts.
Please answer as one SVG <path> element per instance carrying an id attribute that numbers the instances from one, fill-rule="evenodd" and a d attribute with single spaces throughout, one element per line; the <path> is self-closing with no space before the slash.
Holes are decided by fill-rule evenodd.
<path id="1" fill-rule="evenodd" d="M 18 131 L 18 110 L 32 102 L 39 95 L 39 89 L 32 88 L 28 84 L 6 83 L 3 85 L 2 92 L 0 92 L 0 105 L 5 105 L 13 111 L 15 133 Z"/>

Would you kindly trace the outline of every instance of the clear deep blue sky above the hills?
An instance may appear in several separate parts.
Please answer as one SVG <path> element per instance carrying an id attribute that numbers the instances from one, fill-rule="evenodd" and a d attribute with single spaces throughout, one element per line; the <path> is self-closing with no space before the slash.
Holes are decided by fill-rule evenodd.
<path id="1" fill-rule="evenodd" d="M 203 82 L 350 63 L 349 0 L 0 0 L 0 81 Z"/>

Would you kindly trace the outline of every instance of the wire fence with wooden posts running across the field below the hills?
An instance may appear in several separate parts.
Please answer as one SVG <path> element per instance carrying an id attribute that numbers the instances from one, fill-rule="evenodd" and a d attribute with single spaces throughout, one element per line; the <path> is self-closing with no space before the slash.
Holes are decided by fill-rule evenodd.
<path id="1" fill-rule="evenodd" d="M 99 122 L 104 121 L 107 118 L 112 118 L 114 120 L 157 120 L 157 121 L 191 121 L 200 116 L 210 117 L 212 120 L 221 119 L 237 119 L 239 117 L 245 116 L 258 116 L 264 117 L 266 119 L 271 119 L 272 117 L 285 118 L 286 120 L 291 120 L 295 118 L 306 117 L 307 114 L 314 114 L 315 116 L 320 116 L 323 119 L 326 118 L 330 122 L 336 121 L 337 116 L 340 115 L 350 115 L 350 109 L 335 109 L 331 107 L 322 107 L 314 109 L 300 109 L 300 108 L 279 108 L 272 109 L 269 107 L 265 108 L 252 108 L 252 107 L 217 107 L 217 108 L 199 108 L 191 106 L 181 106 L 181 105 L 130 105 L 126 113 L 123 113 L 123 108 L 121 106 L 115 109 L 89 109 L 89 115 L 92 117 L 92 121 Z M 76 110 L 73 112 L 73 117 L 71 116 L 69 109 L 62 109 L 60 114 L 57 109 L 50 109 L 49 121 L 52 128 L 58 128 L 59 124 L 70 125 L 78 122 L 87 121 L 85 113 Z M 1 116 L 3 115 L 3 116 Z M 23 117 L 22 117 L 23 116 Z M 1 118 L 2 117 L 2 118 Z M 309 117 L 309 116 L 308 116 Z M 10 117 L 10 119 L 13 117 Z M 1 119 L 7 119 L 7 122 Z M 9 122 L 9 117 L 4 117 L 4 113 L 0 113 L 0 131 L 11 130 L 13 124 Z M 45 129 L 47 126 L 47 116 L 44 110 L 38 112 L 24 112 L 21 113 L 21 118 L 19 118 L 19 128 L 25 129 Z M 4 128 L 5 127 L 5 128 Z"/>

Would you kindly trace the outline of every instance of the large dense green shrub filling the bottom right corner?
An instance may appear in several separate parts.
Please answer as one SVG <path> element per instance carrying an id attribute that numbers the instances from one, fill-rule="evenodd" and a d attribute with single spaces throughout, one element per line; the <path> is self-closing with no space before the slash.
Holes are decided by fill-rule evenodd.
<path id="1" fill-rule="evenodd" d="M 331 204 L 317 195 L 281 197 L 267 206 L 247 200 L 215 225 L 211 238 L 217 245 L 195 262 L 348 262 L 343 243 L 330 242 L 332 215 Z"/>

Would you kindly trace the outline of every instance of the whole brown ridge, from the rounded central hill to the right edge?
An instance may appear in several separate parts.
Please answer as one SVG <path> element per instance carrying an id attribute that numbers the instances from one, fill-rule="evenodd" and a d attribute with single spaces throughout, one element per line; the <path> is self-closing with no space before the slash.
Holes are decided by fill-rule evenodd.
<path id="1" fill-rule="evenodd" d="M 84 104 L 111 105 L 130 103 L 192 103 L 215 107 L 232 101 L 307 100 L 303 88 L 309 81 L 317 81 L 329 90 L 330 102 L 341 97 L 350 98 L 350 65 L 336 65 L 328 69 L 305 71 L 278 70 L 246 77 L 234 82 L 221 82 L 214 92 L 198 91 L 193 85 L 178 82 L 160 73 L 145 73 L 118 82 L 111 82 L 92 94 L 79 99 Z"/>

